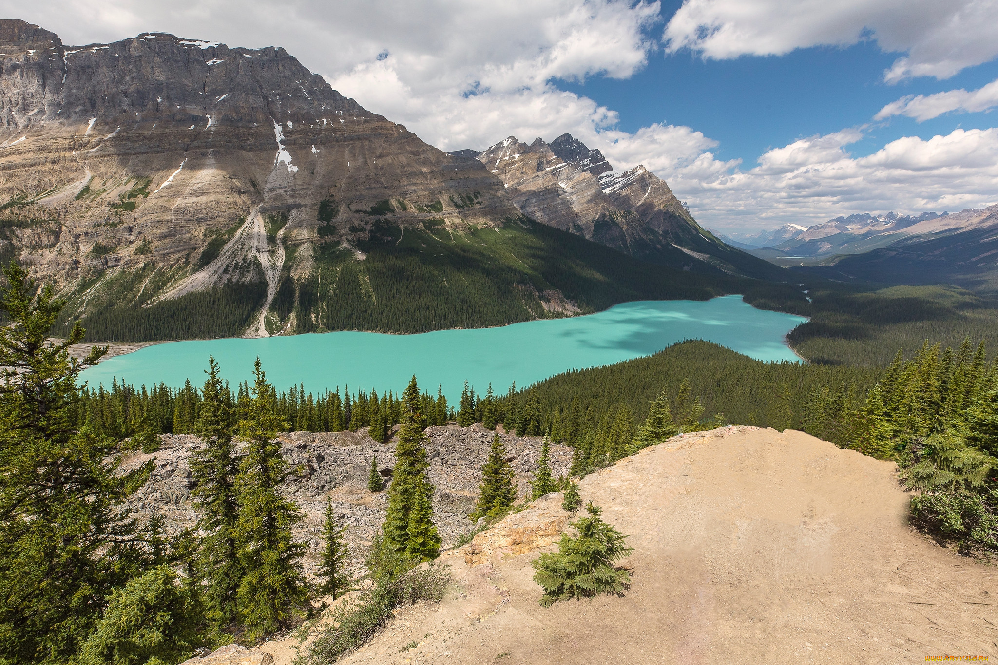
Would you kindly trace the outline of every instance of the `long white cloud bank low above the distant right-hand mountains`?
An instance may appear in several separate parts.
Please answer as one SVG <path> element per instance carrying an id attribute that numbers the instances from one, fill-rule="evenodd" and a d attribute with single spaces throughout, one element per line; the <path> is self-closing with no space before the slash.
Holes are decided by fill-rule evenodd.
<path id="1" fill-rule="evenodd" d="M 843 130 L 801 139 L 768 151 L 749 170 L 712 172 L 695 163 L 671 173 L 670 184 L 698 219 L 721 229 L 809 225 L 861 211 L 954 211 L 998 201 L 998 129 L 955 130 L 927 141 L 904 137 L 853 158 L 846 147 L 861 138 L 860 131 Z"/>

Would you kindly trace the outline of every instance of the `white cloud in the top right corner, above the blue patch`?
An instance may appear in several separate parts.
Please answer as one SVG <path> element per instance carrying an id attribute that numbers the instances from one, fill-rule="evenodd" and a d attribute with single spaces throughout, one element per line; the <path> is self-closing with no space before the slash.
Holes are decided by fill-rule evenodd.
<path id="1" fill-rule="evenodd" d="M 685 0 L 669 21 L 667 51 L 692 49 L 719 60 L 783 55 L 872 38 L 907 53 L 884 72 L 897 82 L 947 79 L 998 55 L 994 0 Z"/>

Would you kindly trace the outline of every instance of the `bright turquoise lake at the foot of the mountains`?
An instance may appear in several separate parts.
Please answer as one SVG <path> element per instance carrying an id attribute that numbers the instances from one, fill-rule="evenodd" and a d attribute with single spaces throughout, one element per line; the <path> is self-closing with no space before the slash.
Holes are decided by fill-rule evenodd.
<path id="1" fill-rule="evenodd" d="M 439 330 L 418 335 L 331 332 L 262 339 L 170 342 L 115 356 L 82 374 L 92 387 L 113 377 L 135 386 L 204 383 L 209 355 L 231 384 L 251 381 L 259 356 L 269 382 L 284 390 L 351 392 L 405 387 L 415 374 L 423 390 L 443 387 L 456 401 L 465 380 L 476 392 L 489 383 L 504 394 L 514 381 L 528 386 L 572 369 L 647 356 L 688 339 L 716 342 L 763 361 L 799 358 L 784 337 L 805 318 L 755 309 L 740 295 L 707 301 L 647 300 L 564 319 L 514 323 L 498 328 Z"/>

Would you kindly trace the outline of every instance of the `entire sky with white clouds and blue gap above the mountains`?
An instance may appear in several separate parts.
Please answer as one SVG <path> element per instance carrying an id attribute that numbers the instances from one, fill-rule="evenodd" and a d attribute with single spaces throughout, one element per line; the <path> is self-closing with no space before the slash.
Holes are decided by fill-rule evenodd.
<path id="1" fill-rule="evenodd" d="M 66 44 L 162 31 L 283 46 L 445 151 L 568 132 L 726 232 L 998 202 L 996 0 L 0 7 Z"/>

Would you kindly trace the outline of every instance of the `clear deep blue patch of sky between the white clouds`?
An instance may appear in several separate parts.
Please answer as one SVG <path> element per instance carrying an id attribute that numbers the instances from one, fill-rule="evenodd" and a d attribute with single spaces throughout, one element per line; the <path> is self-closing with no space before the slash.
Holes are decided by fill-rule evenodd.
<path id="1" fill-rule="evenodd" d="M 593 77 L 583 84 L 557 85 L 616 109 L 625 132 L 661 122 L 686 125 L 720 143 L 719 159 L 741 159 L 746 165 L 771 148 L 844 127 L 872 125 L 866 138 L 851 146 L 850 153 L 862 157 L 904 136 L 927 140 L 958 127 L 995 124 L 989 113 L 948 114 L 924 123 L 904 117 L 874 123 L 880 109 L 905 95 L 972 90 L 998 78 L 998 63 L 990 62 L 945 81 L 919 77 L 887 84 L 883 72 L 897 56 L 883 53 L 874 41 L 724 61 L 660 50 L 628 79 Z"/>

